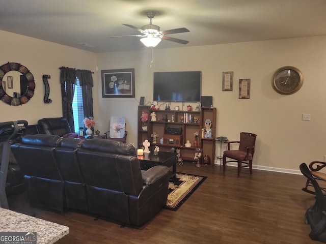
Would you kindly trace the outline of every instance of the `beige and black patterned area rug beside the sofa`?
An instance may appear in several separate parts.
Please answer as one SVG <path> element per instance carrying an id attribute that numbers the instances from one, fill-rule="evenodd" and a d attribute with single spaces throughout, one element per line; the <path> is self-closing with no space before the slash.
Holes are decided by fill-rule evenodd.
<path id="1" fill-rule="evenodd" d="M 206 178 L 206 176 L 177 173 L 177 177 L 170 179 L 168 201 L 165 208 L 178 210 Z"/>

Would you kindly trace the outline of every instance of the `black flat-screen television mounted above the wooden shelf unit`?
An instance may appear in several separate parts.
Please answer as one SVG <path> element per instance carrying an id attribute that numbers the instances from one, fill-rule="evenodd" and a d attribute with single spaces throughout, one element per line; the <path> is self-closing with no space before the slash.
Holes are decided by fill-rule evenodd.
<path id="1" fill-rule="evenodd" d="M 153 100 L 200 102 L 201 71 L 154 72 Z"/>

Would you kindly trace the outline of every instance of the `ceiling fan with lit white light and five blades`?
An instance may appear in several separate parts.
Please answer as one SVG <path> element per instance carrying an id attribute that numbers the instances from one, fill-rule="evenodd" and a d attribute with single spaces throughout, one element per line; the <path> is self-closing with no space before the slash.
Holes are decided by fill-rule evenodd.
<path id="1" fill-rule="evenodd" d="M 152 24 L 152 18 L 155 17 L 155 12 L 147 12 L 147 17 L 150 19 L 149 24 L 142 26 L 142 28 L 135 27 L 130 24 L 123 24 L 130 28 L 135 29 L 136 31 L 142 33 L 142 35 L 128 35 L 128 36 L 112 36 L 106 38 L 115 38 L 115 37 L 142 37 L 140 41 L 147 47 L 155 47 L 161 40 L 167 40 L 171 42 L 177 42 L 180 44 L 187 44 L 189 41 L 181 40 L 178 38 L 167 37 L 166 35 L 177 34 L 189 32 L 187 28 L 177 28 L 177 29 L 169 29 L 168 31 L 160 31 L 159 26 L 156 24 Z"/>

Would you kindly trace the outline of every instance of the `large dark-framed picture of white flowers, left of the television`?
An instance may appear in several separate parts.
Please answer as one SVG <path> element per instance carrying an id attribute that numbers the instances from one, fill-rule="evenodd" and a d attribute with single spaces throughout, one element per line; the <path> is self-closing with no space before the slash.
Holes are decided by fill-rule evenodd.
<path id="1" fill-rule="evenodd" d="M 102 98 L 134 98 L 134 69 L 101 70 Z"/>

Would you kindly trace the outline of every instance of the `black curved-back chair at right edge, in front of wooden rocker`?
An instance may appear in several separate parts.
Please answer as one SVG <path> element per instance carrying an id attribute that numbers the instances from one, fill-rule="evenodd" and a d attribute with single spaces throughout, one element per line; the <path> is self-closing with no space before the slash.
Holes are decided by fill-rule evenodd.
<path id="1" fill-rule="evenodd" d="M 311 182 L 316 195 L 315 203 L 308 208 L 305 214 L 305 223 L 309 224 L 311 227 L 309 237 L 312 240 L 326 242 L 326 196 L 322 194 L 322 191 L 316 179 L 311 174 L 307 164 L 302 163 L 300 165 L 300 170 Z"/>

